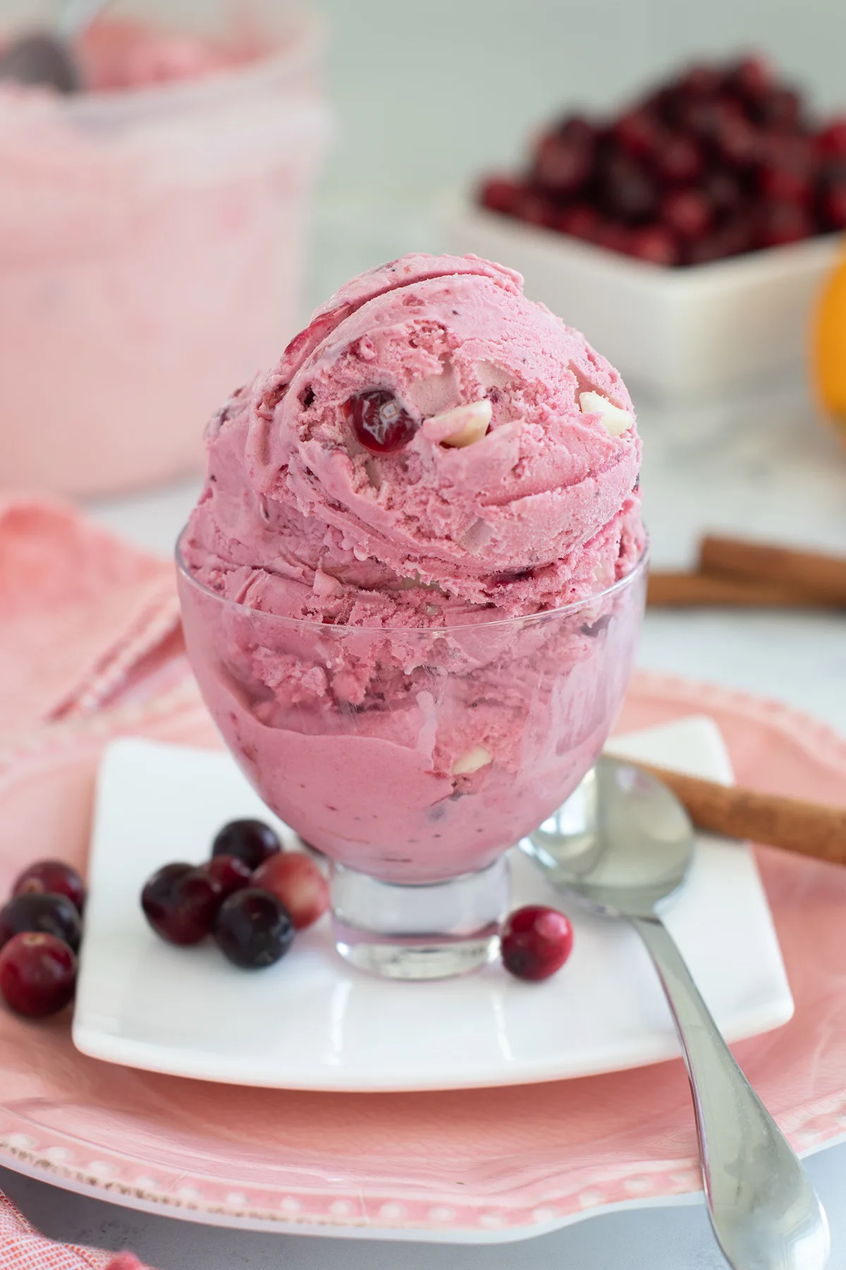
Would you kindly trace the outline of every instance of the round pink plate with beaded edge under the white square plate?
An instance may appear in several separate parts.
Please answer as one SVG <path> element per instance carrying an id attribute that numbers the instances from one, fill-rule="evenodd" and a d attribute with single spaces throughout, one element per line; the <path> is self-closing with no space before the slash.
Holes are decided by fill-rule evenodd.
<path id="1" fill-rule="evenodd" d="M 690 714 L 717 720 L 739 782 L 842 801 L 846 742 L 775 704 L 641 674 L 619 730 Z M 184 686 L 0 756 L 0 889 L 25 859 L 84 860 L 98 756 L 118 733 L 216 743 Z M 797 1011 L 736 1053 L 808 1152 L 846 1133 L 846 869 L 766 848 L 758 864 Z M 0 1162 L 195 1222 L 488 1242 L 699 1189 L 681 1062 L 495 1090 L 303 1093 L 113 1067 L 74 1049 L 65 1017 L 0 1012 Z"/>

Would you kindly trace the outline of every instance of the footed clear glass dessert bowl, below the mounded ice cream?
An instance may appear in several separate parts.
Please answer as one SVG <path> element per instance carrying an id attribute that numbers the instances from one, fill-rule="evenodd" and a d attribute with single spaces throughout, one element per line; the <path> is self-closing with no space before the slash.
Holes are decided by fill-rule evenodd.
<path id="1" fill-rule="evenodd" d="M 506 852 L 575 790 L 623 702 L 646 560 L 549 612 L 365 627 L 225 598 L 178 546 L 205 704 L 268 806 L 329 857 L 344 958 L 425 979 L 496 952 Z"/>

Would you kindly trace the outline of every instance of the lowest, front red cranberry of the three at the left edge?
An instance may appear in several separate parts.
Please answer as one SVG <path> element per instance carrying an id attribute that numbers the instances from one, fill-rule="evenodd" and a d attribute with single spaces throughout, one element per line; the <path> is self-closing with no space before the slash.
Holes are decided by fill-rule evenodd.
<path id="1" fill-rule="evenodd" d="M 76 956 L 46 932 L 13 936 L 0 952 L 0 992 L 19 1015 L 43 1019 L 63 1010 L 76 988 Z"/>

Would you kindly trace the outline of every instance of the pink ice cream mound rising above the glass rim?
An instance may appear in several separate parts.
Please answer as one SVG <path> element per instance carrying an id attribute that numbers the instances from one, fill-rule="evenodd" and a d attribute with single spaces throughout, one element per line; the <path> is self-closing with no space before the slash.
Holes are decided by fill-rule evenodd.
<path id="1" fill-rule="evenodd" d="M 517 274 L 410 255 L 339 291 L 212 423 L 186 563 L 318 621 L 557 608 L 638 559 L 639 457 L 618 373 Z"/>

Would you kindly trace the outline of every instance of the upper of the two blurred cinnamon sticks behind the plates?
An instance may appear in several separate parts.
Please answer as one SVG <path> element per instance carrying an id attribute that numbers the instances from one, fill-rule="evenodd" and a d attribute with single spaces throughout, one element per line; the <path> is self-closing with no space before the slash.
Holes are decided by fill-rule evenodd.
<path id="1" fill-rule="evenodd" d="M 708 535 L 699 568 L 704 574 L 795 587 L 824 605 L 846 607 L 846 556 Z"/>

